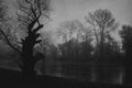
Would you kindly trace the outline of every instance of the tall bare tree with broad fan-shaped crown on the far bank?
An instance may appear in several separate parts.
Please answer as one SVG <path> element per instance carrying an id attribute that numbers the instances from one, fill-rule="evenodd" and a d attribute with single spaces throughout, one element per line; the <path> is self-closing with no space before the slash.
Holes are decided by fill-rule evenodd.
<path id="1" fill-rule="evenodd" d="M 118 28 L 118 23 L 112 13 L 107 9 L 99 9 L 94 13 L 89 13 L 85 19 L 90 24 L 90 29 L 92 29 L 95 34 L 96 51 L 100 55 L 100 58 L 103 59 L 105 43 L 107 42 L 108 36 L 110 36 L 110 33 Z"/>

